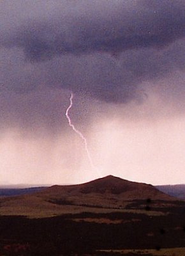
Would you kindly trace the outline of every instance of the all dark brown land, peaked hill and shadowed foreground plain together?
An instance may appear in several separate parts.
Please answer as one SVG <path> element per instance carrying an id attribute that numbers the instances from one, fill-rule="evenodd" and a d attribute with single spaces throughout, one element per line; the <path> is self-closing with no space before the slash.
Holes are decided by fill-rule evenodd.
<path id="1" fill-rule="evenodd" d="M 5 256 L 184 253 L 185 202 L 149 184 L 109 175 L 0 203 Z"/>

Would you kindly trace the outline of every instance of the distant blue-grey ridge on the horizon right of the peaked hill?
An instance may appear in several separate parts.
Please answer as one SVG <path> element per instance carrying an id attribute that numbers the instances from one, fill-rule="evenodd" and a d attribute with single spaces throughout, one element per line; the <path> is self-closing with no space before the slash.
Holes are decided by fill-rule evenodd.
<path id="1" fill-rule="evenodd" d="M 185 200 L 185 184 L 156 186 L 157 189 L 170 196 Z"/>

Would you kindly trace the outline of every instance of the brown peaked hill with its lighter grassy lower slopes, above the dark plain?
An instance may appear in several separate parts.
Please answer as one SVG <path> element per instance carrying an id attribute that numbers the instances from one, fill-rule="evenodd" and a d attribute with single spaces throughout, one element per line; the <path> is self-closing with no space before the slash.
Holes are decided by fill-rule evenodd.
<path id="1" fill-rule="evenodd" d="M 0 214 L 45 217 L 80 212 L 159 211 L 176 202 L 177 198 L 150 184 L 109 175 L 84 184 L 51 186 L 29 195 L 2 197 Z"/>

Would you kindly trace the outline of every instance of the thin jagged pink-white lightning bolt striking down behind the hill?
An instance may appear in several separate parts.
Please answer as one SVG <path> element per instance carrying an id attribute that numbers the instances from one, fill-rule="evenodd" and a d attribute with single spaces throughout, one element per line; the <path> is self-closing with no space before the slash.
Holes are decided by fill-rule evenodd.
<path id="1" fill-rule="evenodd" d="M 85 151 L 87 153 L 87 157 L 89 159 L 89 163 L 91 164 L 91 168 L 92 169 L 96 169 L 94 164 L 93 164 L 93 160 L 91 158 L 91 154 L 89 152 L 89 149 L 87 147 L 87 140 L 86 138 L 84 137 L 84 135 L 82 134 L 82 132 L 78 131 L 76 128 L 75 128 L 75 125 L 72 124 L 71 122 L 71 118 L 69 116 L 69 111 L 70 109 L 72 108 L 73 106 L 73 93 L 71 93 L 71 97 L 70 97 L 70 106 L 68 107 L 68 109 L 66 110 L 66 118 L 68 119 L 68 124 L 70 125 L 70 127 L 73 129 L 74 132 L 76 132 L 80 138 L 84 141 L 84 145 L 85 145 Z M 100 175 L 100 173 L 98 173 Z"/>

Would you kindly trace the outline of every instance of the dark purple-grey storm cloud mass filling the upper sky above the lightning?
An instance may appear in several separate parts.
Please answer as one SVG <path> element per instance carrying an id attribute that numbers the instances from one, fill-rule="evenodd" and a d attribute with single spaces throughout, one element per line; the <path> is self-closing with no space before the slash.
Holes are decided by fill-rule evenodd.
<path id="1" fill-rule="evenodd" d="M 1 14 L 3 89 L 140 102 L 142 83 L 185 67 L 183 0 L 18 0 L 1 2 Z"/>

